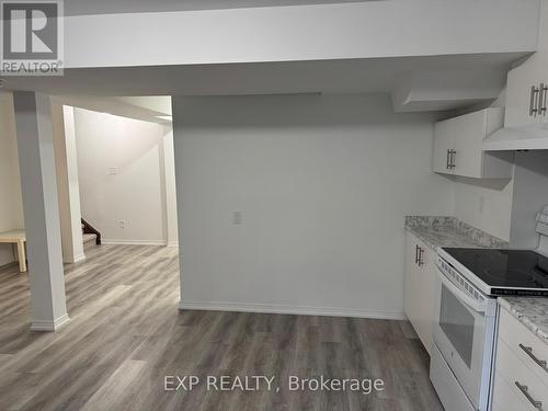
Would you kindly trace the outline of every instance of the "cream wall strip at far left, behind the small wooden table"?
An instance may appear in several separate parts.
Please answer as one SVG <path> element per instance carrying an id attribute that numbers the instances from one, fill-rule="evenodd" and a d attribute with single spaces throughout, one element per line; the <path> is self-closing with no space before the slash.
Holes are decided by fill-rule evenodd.
<path id="1" fill-rule="evenodd" d="M 11 94 L 0 94 L 0 232 L 24 228 L 15 119 Z M 11 246 L 0 244 L 0 265 L 14 261 Z"/>

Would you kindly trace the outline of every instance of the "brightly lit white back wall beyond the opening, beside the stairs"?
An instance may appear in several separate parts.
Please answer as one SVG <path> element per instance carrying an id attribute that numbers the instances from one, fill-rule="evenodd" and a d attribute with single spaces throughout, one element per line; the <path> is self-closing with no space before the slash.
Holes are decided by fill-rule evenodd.
<path id="1" fill-rule="evenodd" d="M 164 126 L 76 109 L 75 127 L 82 217 L 104 242 L 165 243 Z"/>

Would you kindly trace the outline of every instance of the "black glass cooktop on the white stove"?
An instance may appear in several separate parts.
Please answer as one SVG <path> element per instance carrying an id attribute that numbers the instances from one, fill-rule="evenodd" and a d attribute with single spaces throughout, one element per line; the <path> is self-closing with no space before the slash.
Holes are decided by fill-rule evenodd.
<path id="1" fill-rule="evenodd" d="M 535 251 L 458 248 L 444 250 L 492 287 L 492 295 L 548 296 L 548 258 Z M 520 288 L 537 293 L 520 292 Z"/>

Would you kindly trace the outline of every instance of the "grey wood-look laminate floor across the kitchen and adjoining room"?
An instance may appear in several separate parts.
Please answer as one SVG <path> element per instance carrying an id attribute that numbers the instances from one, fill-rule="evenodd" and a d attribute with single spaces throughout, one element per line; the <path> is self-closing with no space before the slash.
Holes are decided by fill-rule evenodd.
<path id="1" fill-rule="evenodd" d="M 102 246 L 66 267 L 71 322 L 28 330 L 28 282 L 0 270 L 0 410 L 441 410 L 409 323 L 178 310 L 174 249 Z M 165 376 L 275 376 L 279 392 L 165 391 Z M 288 376 L 383 391 L 288 390 Z M 273 385 L 273 387 L 274 387 Z M 214 388 L 212 386 L 212 388 Z"/>

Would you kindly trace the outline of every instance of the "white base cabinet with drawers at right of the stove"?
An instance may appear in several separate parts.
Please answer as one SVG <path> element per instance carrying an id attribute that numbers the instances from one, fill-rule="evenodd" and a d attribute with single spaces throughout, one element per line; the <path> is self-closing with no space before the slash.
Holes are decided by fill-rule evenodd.
<path id="1" fill-rule="evenodd" d="M 544 362 L 547 359 L 548 345 L 501 309 L 493 411 L 546 410 L 548 369 Z"/>

